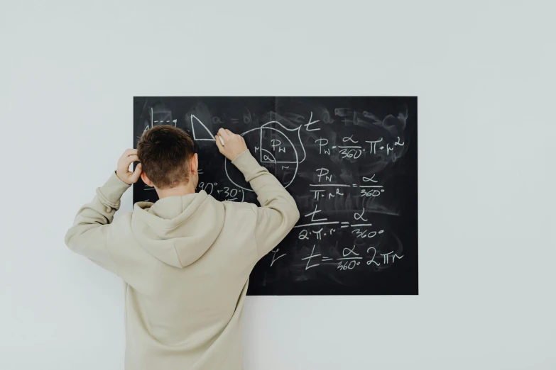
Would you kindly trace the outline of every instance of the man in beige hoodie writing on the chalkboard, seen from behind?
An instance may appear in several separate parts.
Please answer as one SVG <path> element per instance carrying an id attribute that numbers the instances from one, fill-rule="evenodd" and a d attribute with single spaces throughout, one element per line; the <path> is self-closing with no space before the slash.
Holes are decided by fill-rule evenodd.
<path id="1" fill-rule="evenodd" d="M 222 139 L 222 140 L 221 140 Z M 242 369 L 241 312 L 254 265 L 299 219 L 288 191 L 244 139 L 220 129 L 219 151 L 249 181 L 261 207 L 219 202 L 199 181 L 187 133 L 161 125 L 126 150 L 65 242 L 126 283 L 126 369 Z M 132 162 L 141 162 L 129 172 Z M 111 223 L 141 179 L 159 201 L 140 202 Z"/>

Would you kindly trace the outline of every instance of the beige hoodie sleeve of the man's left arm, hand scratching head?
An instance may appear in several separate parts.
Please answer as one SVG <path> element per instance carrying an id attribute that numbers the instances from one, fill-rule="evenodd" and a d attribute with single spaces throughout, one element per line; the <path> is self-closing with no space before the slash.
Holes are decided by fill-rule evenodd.
<path id="1" fill-rule="evenodd" d="M 72 228 L 67 230 L 65 244 L 73 252 L 92 260 L 117 274 L 110 257 L 107 235 L 114 213 L 120 208 L 120 198 L 130 185 L 121 181 L 116 172 L 97 189 L 97 196 L 77 212 Z"/>

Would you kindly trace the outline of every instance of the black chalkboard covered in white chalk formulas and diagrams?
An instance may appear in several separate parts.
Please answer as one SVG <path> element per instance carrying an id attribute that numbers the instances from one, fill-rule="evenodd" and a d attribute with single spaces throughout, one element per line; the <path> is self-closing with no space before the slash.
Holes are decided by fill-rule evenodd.
<path id="1" fill-rule="evenodd" d="M 133 138 L 175 125 L 195 140 L 198 189 L 256 203 L 219 154 L 244 135 L 295 198 L 301 218 L 251 273 L 251 295 L 418 294 L 417 98 L 136 97 Z M 133 202 L 156 201 L 138 181 Z"/>

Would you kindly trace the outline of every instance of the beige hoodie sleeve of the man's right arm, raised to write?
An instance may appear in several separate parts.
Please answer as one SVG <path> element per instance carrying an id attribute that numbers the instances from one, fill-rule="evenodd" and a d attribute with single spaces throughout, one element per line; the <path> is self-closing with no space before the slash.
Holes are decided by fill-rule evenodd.
<path id="1" fill-rule="evenodd" d="M 231 163 L 244 174 L 261 204 L 261 207 L 253 206 L 257 215 L 255 237 L 260 259 L 276 247 L 298 222 L 298 206 L 280 181 L 258 164 L 249 150 L 241 152 Z"/>

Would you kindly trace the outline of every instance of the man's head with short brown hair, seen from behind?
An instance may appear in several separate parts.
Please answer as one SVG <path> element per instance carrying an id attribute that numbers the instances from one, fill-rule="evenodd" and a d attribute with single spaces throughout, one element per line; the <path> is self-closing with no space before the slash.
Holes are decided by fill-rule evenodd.
<path id="1" fill-rule="evenodd" d="M 160 125 L 147 130 L 137 144 L 143 172 L 158 189 L 189 182 L 189 163 L 195 144 L 184 130 Z"/>

